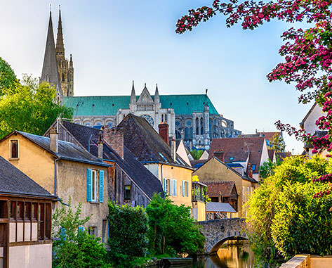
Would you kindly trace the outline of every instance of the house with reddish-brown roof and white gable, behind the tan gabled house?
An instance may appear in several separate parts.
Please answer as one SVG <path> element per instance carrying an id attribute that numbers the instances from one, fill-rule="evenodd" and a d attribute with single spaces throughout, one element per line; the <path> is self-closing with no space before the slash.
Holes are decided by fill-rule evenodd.
<path id="1" fill-rule="evenodd" d="M 234 168 L 241 175 L 248 170 L 248 163 L 253 170 L 253 179 L 258 181 L 259 167 L 269 158 L 267 143 L 264 136 L 213 139 L 208 158 L 213 158 L 219 152 L 220 160 L 226 162 L 229 167 Z M 237 188 L 239 191 L 239 189 Z"/>

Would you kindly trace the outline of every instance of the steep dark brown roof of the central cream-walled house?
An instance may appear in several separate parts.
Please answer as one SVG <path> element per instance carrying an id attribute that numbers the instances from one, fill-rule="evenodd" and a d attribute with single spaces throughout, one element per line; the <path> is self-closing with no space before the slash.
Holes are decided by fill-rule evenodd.
<path id="1" fill-rule="evenodd" d="M 118 127 L 124 129 L 124 144 L 140 162 L 161 162 L 191 169 L 177 154 L 174 162 L 171 147 L 142 117 L 128 114 Z"/>

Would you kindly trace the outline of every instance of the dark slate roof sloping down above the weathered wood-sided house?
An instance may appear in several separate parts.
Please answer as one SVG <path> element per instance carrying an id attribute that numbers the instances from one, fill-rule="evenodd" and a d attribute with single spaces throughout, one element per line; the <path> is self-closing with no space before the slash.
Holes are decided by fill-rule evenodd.
<path id="1" fill-rule="evenodd" d="M 90 141 L 90 152 L 93 155 L 98 155 L 98 133 L 99 129 L 94 129 L 92 127 L 85 127 L 82 125 L 74 124 L 72 122 L 67 122 L 65 120 L 61 121 L 61 124 L 70 132 L 76 139 L 84 146 L 86 150 L 89 147 Z M 105 160 L 115 161 L 117 165 L 124 170 L 128 177 L 130 177 L 135 184 L 137 184 L 142 191 L 144 191 L 147 196 L 152 198 L 154 193 L 160 193 L 164 196 L 164 191 L 161 187 L 161 183 L 157 177 L 154 176 L 147 168 L 144 167 L 138 160 L 136 160 L 135 155 L 124 146 L 124 158 L 121 158 L 111 146 L 104 143 L 103 150 Z"/>

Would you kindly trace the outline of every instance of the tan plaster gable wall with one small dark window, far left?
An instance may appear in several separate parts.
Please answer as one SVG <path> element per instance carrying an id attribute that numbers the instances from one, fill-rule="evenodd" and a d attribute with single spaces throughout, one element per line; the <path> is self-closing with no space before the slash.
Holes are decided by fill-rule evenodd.
<path id="1" fill-rule="evenodd" d="M 18 158 L 11 158 L 11 139 L 18 140 Z M 54 158 L 51 153 L 20 134 L 13 134 L 0 142 L 0 155 L 11 162 L 48 192 L 54 194 Z"/>

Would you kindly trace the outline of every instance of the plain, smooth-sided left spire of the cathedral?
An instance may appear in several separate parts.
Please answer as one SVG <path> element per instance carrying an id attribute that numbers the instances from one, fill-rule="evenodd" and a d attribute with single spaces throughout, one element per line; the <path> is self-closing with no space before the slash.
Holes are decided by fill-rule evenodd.
<path id="1" fill-rule="evenodd" d="M 55 86 L 57 90 L 57 95 L 62 96 L 61 81 L 59 79 L 56 53 L 55 53 L 51 11 L 50 11 L 50 20 L 48 22 L 45 56 L 44 56 L 43 70 L 41 70 L 40 82 L 48 82 L 51 84 L 51 86 Z"/>

